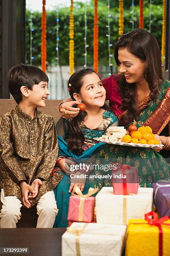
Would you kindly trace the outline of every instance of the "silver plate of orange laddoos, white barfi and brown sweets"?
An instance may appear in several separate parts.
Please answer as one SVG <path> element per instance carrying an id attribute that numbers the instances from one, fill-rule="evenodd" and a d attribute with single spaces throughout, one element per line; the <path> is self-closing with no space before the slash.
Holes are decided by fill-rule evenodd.
<path id="1" fill-rule="evenodd" d="M 160 141 L 155 139 L 155 134 L 152 133 L 150 126 L 141 126 L 137 128 L 136 125 L 129 125 L 128 130 L 124 126 L 111 126 L 107 128 L 106 134 L 99 138 L 94 138 L 96 141 L 104 143 L 142 147 L 155 148 L 163 146 Z"/>

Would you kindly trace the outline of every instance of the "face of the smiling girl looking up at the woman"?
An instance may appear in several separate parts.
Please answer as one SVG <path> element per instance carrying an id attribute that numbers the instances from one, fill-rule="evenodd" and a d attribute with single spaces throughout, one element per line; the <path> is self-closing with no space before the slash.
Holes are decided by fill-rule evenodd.
<path id="1" fill-rule="evenodd" d="M 106 90 L 96 73 L 84 76 L 80 93 L 74 93 L 74 98 L 88 107 L 102 107 L 106 99 Z"/>

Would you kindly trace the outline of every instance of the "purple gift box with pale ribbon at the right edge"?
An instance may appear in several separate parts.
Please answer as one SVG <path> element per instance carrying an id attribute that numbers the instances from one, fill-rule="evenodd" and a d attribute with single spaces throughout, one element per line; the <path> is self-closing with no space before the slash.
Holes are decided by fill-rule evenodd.
<path id="1" fill-rule="evenodd" d="M 170 217 L 170 183 L 153 183 L 154 201 L 160 217 Z"/>

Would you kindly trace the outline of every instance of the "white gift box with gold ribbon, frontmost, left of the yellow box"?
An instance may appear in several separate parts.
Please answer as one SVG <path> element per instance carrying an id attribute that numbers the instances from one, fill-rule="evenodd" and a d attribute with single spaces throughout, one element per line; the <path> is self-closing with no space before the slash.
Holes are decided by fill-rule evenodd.
<path id="1" fill-rule="evenodd" d="M 74 222 L 62 236 L 62 256 L 121 256 L 126 228 Z"/>

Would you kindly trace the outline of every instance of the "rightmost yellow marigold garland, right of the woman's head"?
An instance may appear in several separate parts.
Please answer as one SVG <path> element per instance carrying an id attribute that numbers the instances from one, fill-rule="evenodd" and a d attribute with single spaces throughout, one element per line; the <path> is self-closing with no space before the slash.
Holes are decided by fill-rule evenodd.
<path id="1" fill-rule="evenodd" d="M 166 0 L 162 1 L 162 46 L 161 46 L 161 56 L 162 64 L 164 65 L 165 57 L 165 36 L 166 36 Z"/>

